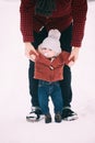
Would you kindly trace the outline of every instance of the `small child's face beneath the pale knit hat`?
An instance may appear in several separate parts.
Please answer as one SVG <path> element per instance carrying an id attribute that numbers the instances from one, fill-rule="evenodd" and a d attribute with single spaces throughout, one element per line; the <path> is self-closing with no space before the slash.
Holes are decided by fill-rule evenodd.
<path id="1" fill-rule="evenodd" d="M 46 47 L 41 47 L 40 48 L 40 53 L 46 56 L 47 58 L 51 58 L 56 55 L 56 52 L 50 50 L 50 48 L 46 48 Z"/>

